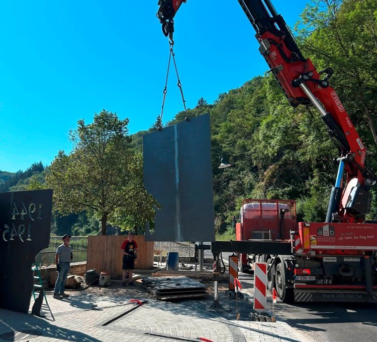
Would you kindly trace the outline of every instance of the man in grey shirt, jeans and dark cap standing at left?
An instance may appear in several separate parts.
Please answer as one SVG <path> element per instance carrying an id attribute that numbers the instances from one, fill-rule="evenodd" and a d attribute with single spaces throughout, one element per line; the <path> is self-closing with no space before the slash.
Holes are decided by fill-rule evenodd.
<path id="1" fill-rule="evenodd" d="M 69 297 L 69 294 L 64 293 L 64 283 L 69 273 L 69 265 L 73 258 L 72 247 L 69 246 L 70 235 L 63 236 L 63 243 L 56 249 L 55 264 L 58 271 L 58 277 L 55 283 L 54 298 L 61 299 L 62 297 Z"/>

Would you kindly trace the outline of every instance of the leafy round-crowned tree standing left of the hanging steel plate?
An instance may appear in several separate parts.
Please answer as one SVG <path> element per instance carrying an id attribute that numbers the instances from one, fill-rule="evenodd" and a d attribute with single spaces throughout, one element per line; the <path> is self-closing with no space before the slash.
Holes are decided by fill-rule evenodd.
<path id="1" fill-rule="evenodd" d="M 95 114 L 91 124 L 79 120 L 69 134 L 72 152 L 59 151 L 46 175 L 58 212 L 92 211 L 101 220 L 102 235 L 119 210 L 125 215 L 143 210 L 134 206 L 146 191 L 141 157 L 130 147 L 128 121 L 105 109 Z"/>

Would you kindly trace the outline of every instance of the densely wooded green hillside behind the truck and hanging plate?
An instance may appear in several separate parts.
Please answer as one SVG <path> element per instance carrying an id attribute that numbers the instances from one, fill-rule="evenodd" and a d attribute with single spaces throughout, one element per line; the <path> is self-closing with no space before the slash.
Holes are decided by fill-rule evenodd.
<path id="1" fill-rule="evenodd" d="M 367 146 L 368 167 L 377 172 L 377 2 L 313 0 L 296 30 L 304 56 L 310 57 L 318 70 L 334 70 L 330 83 Z M 214 147 L 217 232 L 229 227 L 244 198 L 293 199 L 298 204 L 299 220 L 325 219 L 338 150 L 313 107 L 291 107 L 275 78 L 267 73 L 220 94 L 213 104 L 200 98 L 195 108 L 177 113 L 165 126 L 206 112 L 211 116 Z M 158 121 L 148 131 L 131 136 L 133 149 L 141 151 L 142 135 L 156 129 Z M 215 150 L 221 151 L 232 166 L 218 169 Z M 25 175 L 2 172 L 1 189 L 21 189 L 29 184 L 30 177 L 43 183 L 45 171 L 38 165 L 33 164 Z M 42 169 L 36 170 L 40 166 Z M 375 190 L 372 193 L 370 218 L 377 219 Z M 96 234 L 99 230 L 98 220 L 90 212 L 55 217 L 58 233 L 70 229 L 74 234 Z"/>

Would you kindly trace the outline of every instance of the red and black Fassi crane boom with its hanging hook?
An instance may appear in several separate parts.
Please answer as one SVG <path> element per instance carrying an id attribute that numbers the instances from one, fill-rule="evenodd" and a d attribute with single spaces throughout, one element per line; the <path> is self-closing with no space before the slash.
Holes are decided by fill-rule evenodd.
<path id="1" fill-rule="evenodd" d="M 159 0 L 157 17 L 172 41 L 173 18 L 186 0 Z M 259 52 L 288 102 L 314 106 L 339 149 L 338 174 L 332 188 L 326 222 L 361 223 L 370 212 L 370 186 L 375 176 L 365 166 L 366 148 L 335 90 L 329 85 L 330 68 L 318 72 L 305 58 L 285 20 L 270 0 L 238 0 L 256 32 Z M 323 77 L 324 76 L 324 77 Z"/>

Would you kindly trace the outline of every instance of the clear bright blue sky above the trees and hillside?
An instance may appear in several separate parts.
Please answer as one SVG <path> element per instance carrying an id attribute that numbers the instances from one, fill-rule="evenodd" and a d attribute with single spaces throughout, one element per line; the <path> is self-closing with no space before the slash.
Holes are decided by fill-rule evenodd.
<path id="1" fill-rule="evenodd" d="M 273 0 L 293 27 L 310 0 Z M 288 5 L 287 5 L 288 4 Z M 148 129 L 161 112 L 169 46 L 157 0 L 13 0 L 0 4 L 0 169 L 48 165 L 69 152 L 68 132 L 103 108 Z M 174 51 L 186 105 L 267 70 L 236 0 L 187 0 Z M 163 121 L 183 106 L 170 70 Z"/>

